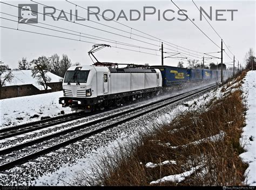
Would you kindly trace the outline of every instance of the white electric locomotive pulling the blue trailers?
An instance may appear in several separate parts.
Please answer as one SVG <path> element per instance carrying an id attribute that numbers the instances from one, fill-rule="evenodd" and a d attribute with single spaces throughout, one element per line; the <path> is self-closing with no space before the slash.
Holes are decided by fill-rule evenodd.
<path id="1" fill-rule="evenodd" d="M 116 67 L 117 66 L 117 67 Z M 133 101 L 158 93 L 162 77 L 158 69 L 145 66 L 98 64 L 72 66 L 63 80 L 64 97 L 59 104 L 73 109 L 94 110 Z"/>

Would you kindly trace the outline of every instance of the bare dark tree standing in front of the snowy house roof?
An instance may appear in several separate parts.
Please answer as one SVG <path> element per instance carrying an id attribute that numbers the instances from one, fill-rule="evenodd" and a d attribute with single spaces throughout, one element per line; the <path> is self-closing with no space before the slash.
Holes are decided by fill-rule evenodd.
<path id="1" fill-rule="evenodd" d="M 32 77 L 37 79 L 38 84 L 44 87 L 44 90 L 48 89 L 47 83 L 51 81 L 51 78 L 47 76 L 47 72 L 50 71 L 49 58 L 42 56 L 38 59 L 32 60 Z"/>

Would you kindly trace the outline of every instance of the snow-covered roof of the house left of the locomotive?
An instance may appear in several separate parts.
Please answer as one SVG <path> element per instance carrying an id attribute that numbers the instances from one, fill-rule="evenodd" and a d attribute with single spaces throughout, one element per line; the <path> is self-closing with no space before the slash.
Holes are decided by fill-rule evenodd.
<path id="1" fill-rule="evenodd" d="M 5 86 L 32 84 L 37 89 L 44 90 L 44 87 L 37 83 L 36 78 L 32 77 L 31 70 L 12 70 L 11 73 L 14 75 L 14 78 L 11 80 L 11 82 L 5 82 Z M 47 72 L 46 74 L 48 77 L 51 78 L 50 83 L 60 82 L 60 80 L 62 79 L 62 77 L 59 77 L 56 74 L 53 74 L 51 72 Z M 49 90 L 51 89 L 50 86 L 48 86 L 48 89 Z"/>

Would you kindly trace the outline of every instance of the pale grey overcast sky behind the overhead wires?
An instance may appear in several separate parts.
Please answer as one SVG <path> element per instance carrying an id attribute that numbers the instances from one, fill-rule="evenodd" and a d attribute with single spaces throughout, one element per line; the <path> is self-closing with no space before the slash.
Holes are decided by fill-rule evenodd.
<path id="1" fill-rule="evenodd" d="M 76 6 L 72 5 L 66 1 L 38 1 L 39 3 L 54 6 L 56 9 L 64 10 L 65 12 L 75 13 Z M 31 61 L 34 58 L 39 56 L 48 56 L 50 57 L 53 53 L 58 53 L 58 55 L 62 55 L 65 53 L 69 56 L 72 63 L 79 62 L 80 64 L 91 65 L 92 61 L 88 56 L 88 51 L 91 49 L 93 43 L 104 43 L 109 44 L 112 48 L 105 48 L 95 53 L 95 56 L 98 58 L 100 62 L 114 62 L 114 63 L 134 63 L 134 64 L 145 64 L 149 63 L 150 65 L 160 65 L 161 57 L 159 50 L 159 39 L 165 40 L 169 42 L 169 44 L 164 44 L 164 51 L 166 52 L 181 52 L 183 54 L 177 55 L 178 57 L 189 57 L 190 59 L 199 59 L 200 61 L 203 59 L 203 55 L 201 53 L 207 52 L 218 52 L 220 49 L 217 47 L 220 46 L 221 38 L 224 39 L 224 42 L 227 44 L 228 49 L 235 55 L 235 59 L 239 60 L 239 63 L 244 63 L 244 57 L 246 52 L 253 48 L 255 51 L 255 31 L 256 31 L 256 23 L 255 23 L 255 1 L 195 1 L 195 3 L 200 7 L 202 7 L 207 13 L 210 14 L 210 7 L 212 7 L 212 21 L 208 19 L 213 28 L 218 32 L 220 37 L 213 31 L 211 26 L 205 21 L 203 18 L 200 21 L 200 13 L 196 6 L 192 1 L 174 1 L 180 9 L 184 9 L 187 12 L 188 17 L 194 19 L 194 23 L 198 25 L 198 27 L 206 33 L 206 35 L 213 40 L 211 42 L 193 23 L 191 23 L 188 19 L 187 21 L 179 21 L 177 18 L 184 19 L 184 16 L 178 15 L 177 7 L 171 1 L 72 1 L 73 3 L 87 8 L 88 6 L 98 6 L 100 9 L 100 13 L 102 14 L 104 10 L 111 9 L 116 13 L 116 17 L 114 21 L 116 21 L 120 11 L 123 10 L 125 16 L 129 19 L 130 10 L 138 10 L 141 13 L 141 17 L 138 21 L 126 21 L 125 18 L 120 18 L 118 22 L 125 24 L 129 27 L 126 27 L 122 24 L 118 24 L 113 21 L 104 21 L 102 17 L 99 16 L 100 21 L 96 19 L 95 16 L 91 16 L 91 21 L 75 21 L 74 16 L 71 22 L 63 21 L 61 19 L 65 19 L 62 17 L 59 21 L 53 21 L 51 17 L 46 16 L 45 20 L 43 19 L 43 15 L 38 14 L 38 22 L 43 24 L 50 24 L 54 26 L 58 26 L 60 28 L 72 30 L 67 31 L 64 29 L 53 28 L 53 26 L 43 25 L 41 23 L 38 24 L 18 24 L 16 21 L 18 20 L 18 4 L 37 4 L 31 1 L 4 1 L 4 3 L 12 4 L 14 6 L 6 5 L 0 3 L 1 12 L 8 13 L 10 15 L 6 15 L 1 13 L 1 17 L 13 19 L 15 22 L 8 21 L 6 19 L 0 19 L 1 26 L 19 29 L 19 30 L 11 30 L 1 28 L 1 55 L 0 59 L 8 64 L 12 69 L 18 67 L 18 60 L 21 60 L 22 57 L 26 57 L 27 60 Z M 154 15 L 146 15 L 145 21 L 143 21 L 143 7 L 144 6 L 154 6 L 156 8 L 156 13 Z M 171 19 L 173 17 L 173 21 L 165 21 L 163 17 L 163 12 L 165 10 L 173 10 L 174 12 L 167 11 L 165 17 L 167 19 Z M 216 10 L 225 10 L 222 12 L 223 16 L 218 16 L 219 19 L 226 19 L 226 21 L 216 21 Z M 231 11 L 226 10 L 238 10 L 233 12 L 233 21 L 231 21 Z M 46 9 L 46 11 L 52 11 L 50 9 Z M 151 12 L 153 9 L 147 9 L 146 11 Z M 160 17 L 158 18 L 158 11 L 160 12 Z M 43 5 L 38 4 L 38 12 L 43 13 Z M 59 16 L 59 11 L 56 10 L 54 14 L 55 17 Z M 68 13 L 65 14 L 66 17 L 70 21 L 70 15 Z M 83 17 L 87 18 L 87 11 L 77 7 L 77 15 L 78 18 Z M 62 16 L 64 16 L 62 14 Z M 107 11 L 105 16 L 112 17 L 112 13 Z M 124 15 L 123 15 L 124 16 Z M 137 17 L 137 13 L 135 12 L 132 17 Z M 160 19 L 160 21 L 158 21 Z M 104 26 L 105 24 L 107 26 Z M 87 25 L 87 26 L 85 26 Z M 44 28 L 51 28 L 59 31 L 65 31 L 69 33 L 73 33 L 75 35 L 62 33 L 58 31 L 52 31 L 48 29 L 39 28 L 37 26 L 42 26 Z M 108 32 L 96 30 L 89 28 L 95 27 L 100 30 L 106 30 Z M 112 27 L 112 28 L 111 28 Z M 119 30 L 116 30 L 116 29 Z M 133 28 L 133 30 L 131 30 Z M 139 31 L 143 31 L 151 36 L 147 36 L 143 33 L 137 32 L 134 29 Z M 36 33 L 24 32 L 21 30 L 44 33 L 47 35 L 54 35 L 58 37 L 71 38 L 63 39 L 57 37 L 43 36 Z M 123 31 L 120 31 L 123 30 Z M 126 31 L 126 32 L 125 32 Z M 129 33 L 131 32 L 132 33 Z M 80 37 L 80 34 L 82 36 Z M 112 32 L 112 33 L 110 33 Z M 114 35 L 113 33 L 117 33 L 118 35 Z M 94 35 L 97 37 L 93 38 L 107 38 L 111 40 L 115 40 L 117 42 L 132 44 L 138 47 L 124 46 L 115 44 L 113 41 L 104 42 L 104 40 L 96 40 L 90 39 L 83 36 Z M 122 36 L 126 36 L 122 37 Z M 139 37 L 136 35 L 140 35 L 143 37 Z M 90 37 L 90 36 L 87 36 Z M 156 38 L 154 38 L 156 37 Z M 150 38 L 150 39 L 147 39 Z M 158 39 L 159 38 L 159 39 Z M 84 40 L 86 42 L 79 42 L 78 40 Z M 137 39 L 137 40 L 134 40 Z M 143 41 L 143 42 L 139 42 Z M 161 42 L 160 40 L 160 42 Z M 171 43 L 171 44 L 170 44 Z M 172 45 L 175 44 L 175 45 Z M 152 53 L 154 55 L 149 55 L 140 52 L 122 50 L 118 48 L 114 48 L 115 46 L 119 48 L 130 49 L 134 51 L 142 51 L 147 53 Z M 183 48 L 181 48 L 183 47 Z M 149 48 L 152 50 L 146 50 L 143 48 Z M 167 49 L 168 48 L 168 49 Z M 184 49 L 186 48 L 186 49 Z M 228 55 L 233 59 L 233 55 L 226 46 L 224 45 L 225 51 Z M 193 51 L 191 51 L 193 50 Z M 195 52 L 197 51 L 197 52 Z M 198 53 L 201 52 L 201 53 Z M 185 54 L 186 53 L 186 54 Z M 192 54 L 193 53 L 193 54 Z M 158 55 L 158 56 L 156 56 Z M 172 55 L 172 53 L 171 53 Z M 220 53 L 212 54 L 214 56 L 220 57 Z M 165 54 L 164 56 L 169 56 Z M 177 57 L 174 56 L 174 57 Z M 196 57 L 193 57 L 196 56 Z M 206 56 L 206 55 L 205 55 Z M 197 58 L 198 57 L 198 58 Z M 209 56 L 206 56 L 209 57 Z M 181 59 L 179 58 L 179 60 Z M 166 65 L 177 66 L 179 62 L 177 59 L 165 58 L 164 63 Z M 186 63 L 186 60 L 183 60 Z M 232 60 L 228 58 L 228 56 L 224 53 L 224 63 L 231 62 Z M 206 63 L 210 63 L 211 59 L 206 60 Z M 214 59 L 213 62 L 220 62 L 220 59 Z M 237 62 L 235 63 L 237 65 Z M 230 66 L 230 65 L 228 65 Z"/>

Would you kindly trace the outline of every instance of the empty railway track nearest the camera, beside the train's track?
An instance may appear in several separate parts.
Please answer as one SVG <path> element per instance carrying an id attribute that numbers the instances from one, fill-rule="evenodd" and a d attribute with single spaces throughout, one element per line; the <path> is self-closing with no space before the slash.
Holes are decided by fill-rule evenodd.
<path id="1" fill-rule="evenodd" d="M 216 85 L 208 85 L 207 87 L 203 87 L 191 92 L 157 100 L 149 104 L 130 108 L 129 110 L 114 113 L 110 116 L 105 116 L 84 124 L 76 125 L 72 128 L 46 135 L 45 137 L 5 148 L 0 151 L 0 171 L 15 167 L 16 165 L 24 164 L 25 162 L 35 159 L 41 155 L 58 150 L 61 147 L 72 144 L 73 142 L 82 140 L 84 138 L 91 137 L 94 134 L 123 124 L 126 121 L 132 120 L 166 105 L 177 103 L 178 101 L 211 90 L 215 86 Z"/>

